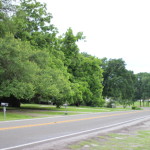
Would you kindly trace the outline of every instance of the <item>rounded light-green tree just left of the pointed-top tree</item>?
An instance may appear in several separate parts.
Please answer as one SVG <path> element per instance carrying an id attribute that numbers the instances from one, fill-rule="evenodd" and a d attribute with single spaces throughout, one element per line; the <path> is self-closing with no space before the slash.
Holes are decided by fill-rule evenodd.
<path id="1" fill-rule="evenodd" d="M 48 50 L 40 50 L 33 55 L 32 61 L 36 62 L 40 71 L 37 74 L 35 83 L 35 102 L 51 101 L 60 107 L 69 101 L 71 94 L 69 74 L 67 68 L 59 57 L 55 57 Z"/>

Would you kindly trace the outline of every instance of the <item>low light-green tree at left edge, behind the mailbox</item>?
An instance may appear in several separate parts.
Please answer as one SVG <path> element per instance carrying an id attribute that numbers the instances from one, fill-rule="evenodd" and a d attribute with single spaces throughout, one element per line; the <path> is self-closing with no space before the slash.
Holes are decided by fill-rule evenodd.
<path id="1" fill-rule="evenodd" d="M 29 60 L 32 49 L 28 42 L 8 34 L 0 39 L 0 97 L 18 100 L 31 99 L 35 94 L 34 77 L 37 65 Z M 13 104 L 10 101 L 10 105 Z"/>

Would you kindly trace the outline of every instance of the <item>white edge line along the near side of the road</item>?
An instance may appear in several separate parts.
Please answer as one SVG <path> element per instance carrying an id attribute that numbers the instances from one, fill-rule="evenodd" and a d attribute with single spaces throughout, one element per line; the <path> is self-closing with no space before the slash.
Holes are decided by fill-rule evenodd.
<path id="1" fill-rule="evenodd" d="M 18 146 L 3 148 L 3 149 L 0 149 L 0 150 L 10 150 L 10 149 L 14 149 L 14 148 L 19 148 L 19 147 L 29 146 L 29 145 L 43 143 L 43 142 L 47 142 L 47 141 L 57 140 L 57 139 L 61 139 L 61 138 L 64 138 L 64 137 L 75 136 L 75 135 L 79 135 L 79 134 L 82 134 L 82 133 L 87 133 L 87 132 L 91 132 L 91 131 L 96 131 L 96 130 L 101 130 L 101 129 L 105 129 L 105 128 L 110 128 L 110 127 L 113 127 L 113 126 L 129 123 L 129 122 L 132 122 L 132 121 L 137 121 L 137 120 L 140 120 L 140 119 L 148 119 L 149 117 L 150 116 L 140 117 L 140 118 L 136 118 L 136 119 L 120 122 L 120 123 L 109 125 L 109 126 L 104 126 L 104 127 L 100 127 L 100 128 L 91 129 L 91 130 L 85 130 L 85 131 L 81 131 L 81 132 L 77 132 L 77 133 L 72 133 L 72 134 L 59 136 L 59 137 L 54 137 L 54 138 L 49 138 L 49 139 L 36 141 L 36 142 L 31 142 L 31 143 L 27 143 L 27 144 L 22 144 L 22 145 L 18 145 Z"/>

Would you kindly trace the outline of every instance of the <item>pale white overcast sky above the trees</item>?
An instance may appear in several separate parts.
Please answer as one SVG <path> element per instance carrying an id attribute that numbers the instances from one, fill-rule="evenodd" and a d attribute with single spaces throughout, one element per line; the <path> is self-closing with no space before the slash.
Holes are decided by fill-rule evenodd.
<path id="1" fill-rule="evenodd" d="M 83 32 L 80 52 L 122 58 L 128 70 L 150 73 L 150 0 L 38 0 L 59 32 Z"/>

